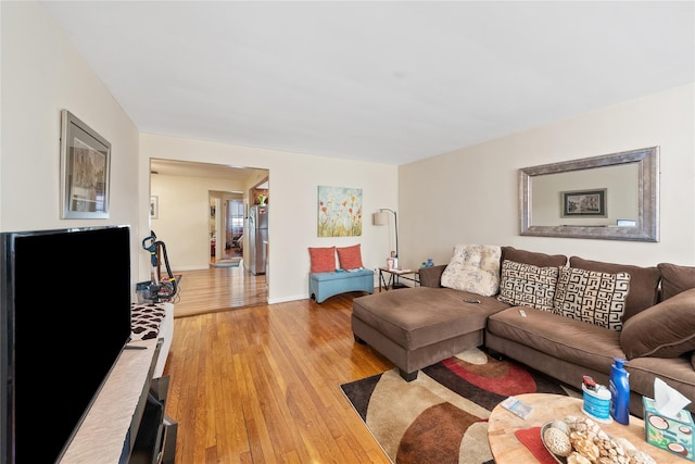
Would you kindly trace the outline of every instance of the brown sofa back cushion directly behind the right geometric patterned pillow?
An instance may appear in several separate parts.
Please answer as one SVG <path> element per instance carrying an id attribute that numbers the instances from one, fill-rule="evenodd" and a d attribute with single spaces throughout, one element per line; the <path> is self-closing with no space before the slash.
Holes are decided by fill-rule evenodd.
<path id="1" fill-rule="evenodd" d="M 630 274 L 630 294 L 628 294 L 628 301 L 626 302 L 623 321 L 629 319 L 642 310 L 654 306 L 658 302 L 658 288 L 661 273 L 656 266 L 640 267 L 628 264 L 603 263 L 601 261 L 590 261 L 578 256 L 571 256 L 569 259 L 569 265 L 571 267 L 599 273 Z"/>

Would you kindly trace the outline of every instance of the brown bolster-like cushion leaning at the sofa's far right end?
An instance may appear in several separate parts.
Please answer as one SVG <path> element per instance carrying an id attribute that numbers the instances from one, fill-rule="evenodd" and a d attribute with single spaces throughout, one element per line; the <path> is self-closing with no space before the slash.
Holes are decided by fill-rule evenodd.
<path id="1" fill-rule="evenodd" d="M 677 358 L 695 350 L 695 288 L 631 317 L 622 328 L 620 343 L 629 360 Z"/>

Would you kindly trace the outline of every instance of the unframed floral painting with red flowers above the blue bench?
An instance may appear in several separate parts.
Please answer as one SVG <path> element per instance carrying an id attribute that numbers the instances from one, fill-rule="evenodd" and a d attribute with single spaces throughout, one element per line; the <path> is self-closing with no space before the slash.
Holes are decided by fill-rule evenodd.
<path id="1" fill-rule="evenodd" d="M 362 235 L 362 189 L 318 186 L 318 236 Z"/>

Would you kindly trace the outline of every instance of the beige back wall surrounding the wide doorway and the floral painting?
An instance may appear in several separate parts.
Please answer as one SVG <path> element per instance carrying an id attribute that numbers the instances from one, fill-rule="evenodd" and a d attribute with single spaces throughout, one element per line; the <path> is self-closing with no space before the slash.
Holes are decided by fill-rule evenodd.
<path id="1" fill-rule="evenodd" d="M 361 243 L 364 265 L 367 267 L 384 263 L 389 250 L 394 247 L 393 235 L 389 235 L 389 228 L 371 225 L 371 213 L 379 208 L 397 210 L 396 166 L 141 134 L 140 185 L 143 191 L 149 189 L 149 163 L 152 158 L 236 164 L 269 171 L 270 302 L 307 297 L 308 247 L 345 247 Z M 243 191 L 253 184 L 255 183 L 247 186 Z M 318 186 L 363 189 L 362 237 L 317 237 Z M 160 196 L 160 214 L 163 214 L 164 201 L 163 196 Z M 205 199 L 201 198 L 200 201 L 207 201 L 206 191 Z M 204 214 L 204 206 L 201 210 L 200 214 Z M 144 230 L 149 227 L 147 212 L 142 220 Z M 173 242 L 160 231 L 163 229 L 157 227 L 157 238 L 166 242 L 170 258 L 174 253 L 170 247 Z M 199 239 L 194 241 L 200 242 Z M 177 263 L 170 261 L 175 267 Z M 146 268 L 149 268 L 147 260 L 143 263 Z"/>

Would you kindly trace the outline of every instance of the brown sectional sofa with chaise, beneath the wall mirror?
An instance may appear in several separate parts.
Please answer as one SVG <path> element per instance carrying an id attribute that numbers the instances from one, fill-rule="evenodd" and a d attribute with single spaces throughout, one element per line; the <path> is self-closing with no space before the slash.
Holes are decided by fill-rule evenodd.
<path id="1" fill-rule="evenodd" d="M 355 339 L 391 360 L 408 381 L 419 368 L 473 347 L 484 347 L 491 355 L 506 355 L 577 388 L 582 375 L 608 385 L 614 359 L 627 359 L 633 415 L 642 417 L 643 396 L 654 398 L 655 377 L 693 400 L 687 409 L 695 413 L 695 267 L 666 263 L 640 267 L 502 247 L 501 269 L 505 260 L 539 267 L 629 273 L 621 329 L 532 304 L 508 304 L 498 294 L 483 297 L 443 288 L 440 278 L 446 266 L 440 265 L 420 269 L 420 287 L 355 298 Z"/>

